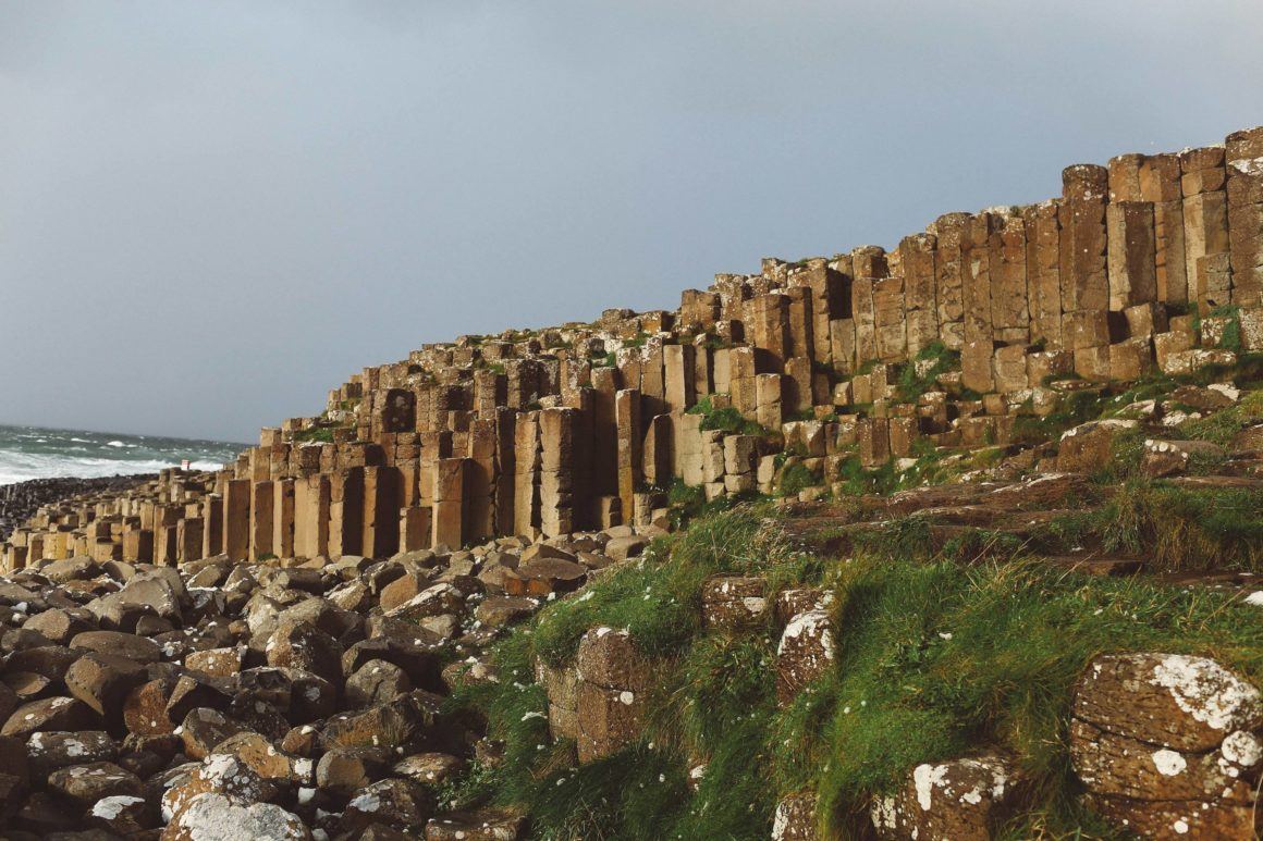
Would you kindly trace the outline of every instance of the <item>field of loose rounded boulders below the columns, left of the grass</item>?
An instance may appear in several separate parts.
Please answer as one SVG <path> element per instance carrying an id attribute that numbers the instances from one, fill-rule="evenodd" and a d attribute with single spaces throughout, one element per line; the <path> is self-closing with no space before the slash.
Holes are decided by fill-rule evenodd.
<path id="1" fill-rule="evenodd" d="M 0 578 L 4 837 L 520 837 L 519 812 L 442 811 L 498 750 L 445 700 L 496 679 L 481 658 L 510 625 L 657 533 Z"/>

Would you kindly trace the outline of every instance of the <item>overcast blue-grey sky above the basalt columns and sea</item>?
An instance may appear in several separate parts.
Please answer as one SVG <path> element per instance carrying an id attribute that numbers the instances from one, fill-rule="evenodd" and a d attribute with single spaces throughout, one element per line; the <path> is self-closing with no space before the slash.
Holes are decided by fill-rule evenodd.
<path id="1" fill-rule="evenodd" d="M 1258 0 L 0 0 L 0 422 L 253 439 L 1263 122 Z"/>

